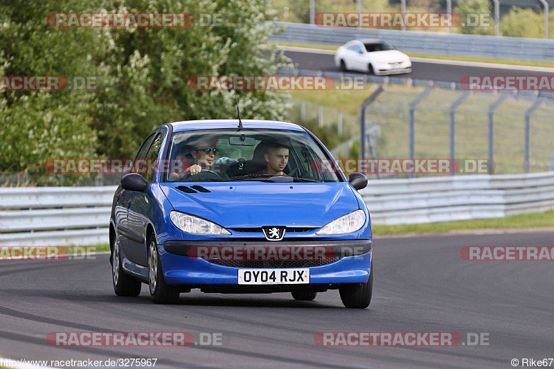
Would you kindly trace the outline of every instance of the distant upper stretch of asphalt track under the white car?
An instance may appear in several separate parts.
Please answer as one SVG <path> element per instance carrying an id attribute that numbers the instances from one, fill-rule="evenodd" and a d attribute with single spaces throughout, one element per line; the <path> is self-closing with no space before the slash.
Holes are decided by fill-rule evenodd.
<path id="1" fill-rule="evenodd" d="M 330 53 L 312 53 L 310 51 L 285 51 L 285 55 L 290 57 L 297 64 L 298 69 L 311 69 L 314 71 L 334 71 L 333 55 Z M 470 63 L 450 64 L 452 62 L 440 61 L 429 62 L 416 59 L 412 61 L 412 71 L 407 74 L 393 75 L 395 78 L 412 78 L 414 80 L 435 80 L 447 82 L 460 82 L 466 75 L 553 75 L 552 72 L 542 68 L 521 69 L 519 66 L 510 66 L 510 69 L 499 67 L 483 67 L 467 65 Z M 494 64 L 493 64 L 494 65 Z M 554 71 L 554 69 L 552 69 Z M 351 72 L 357 73 L 357 72 Z M 364 73 L 359 73 L 363 75 Z"/>

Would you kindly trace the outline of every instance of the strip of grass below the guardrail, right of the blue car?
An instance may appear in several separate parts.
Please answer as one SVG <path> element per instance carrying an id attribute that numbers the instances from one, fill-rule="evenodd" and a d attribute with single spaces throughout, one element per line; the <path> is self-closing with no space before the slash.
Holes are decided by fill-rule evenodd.
<path id="1" fill-rule="evenodd" d="M 554 227 L 554 210 L 546 213 L 526 213 L 504 218 L 471 219 L 425 224 L 373 225 L 373 235 L 419 235 L 425 233 L 456 233 L 483 229 L 523 229 Z M 454 231 L 454 232 L 453 232 Z"/>

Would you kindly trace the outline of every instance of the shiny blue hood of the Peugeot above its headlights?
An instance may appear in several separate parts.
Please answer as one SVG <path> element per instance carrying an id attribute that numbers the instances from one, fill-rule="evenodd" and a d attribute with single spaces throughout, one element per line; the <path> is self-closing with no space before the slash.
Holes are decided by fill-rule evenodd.
<path id="1" fill-rule="evenodd" d="M 210 192 L 186 193 L 177 188 L 195 185 Z M 161 183 L 160 186 L 175 210 L 203 217 L 226 228 L 321 227 L 359 208 L 346 182 L 181 182 Z"/>

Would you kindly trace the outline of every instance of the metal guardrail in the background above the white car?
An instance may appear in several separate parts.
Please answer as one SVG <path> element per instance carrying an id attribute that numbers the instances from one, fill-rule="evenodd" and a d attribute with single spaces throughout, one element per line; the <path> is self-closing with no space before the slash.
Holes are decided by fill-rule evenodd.
<path id="1" fill-rule="evenodd" d="M 367 28 L 329 28 L 314 24 L 276 22 L 286 29 L 274 41 L 342 45 L 351 39 L 379 38 L 401 51 L 439 55 L 501 57 L 520 60 L 554 60 L 554 41 L 523 37 L 458 35 L 435 32 Z"/>

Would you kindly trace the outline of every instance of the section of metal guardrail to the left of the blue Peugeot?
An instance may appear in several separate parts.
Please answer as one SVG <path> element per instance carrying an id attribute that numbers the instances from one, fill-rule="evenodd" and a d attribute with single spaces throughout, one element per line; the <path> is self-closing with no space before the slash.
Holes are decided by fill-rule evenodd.
<path id="1" fill-rule="evenodd" d="M 0 188 L 0 245 L 107 244 L 116 188 Z"/>

